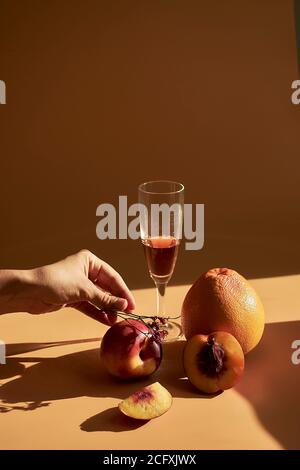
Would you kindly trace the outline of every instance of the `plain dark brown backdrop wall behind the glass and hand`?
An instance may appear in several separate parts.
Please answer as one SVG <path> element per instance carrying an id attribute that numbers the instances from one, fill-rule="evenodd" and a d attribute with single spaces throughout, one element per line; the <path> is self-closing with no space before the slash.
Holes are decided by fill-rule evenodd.
<path id="1" fill-rule="evenodd" d="M 1 266 L 87 247 L 150 286 L 139 243 L 97 240 L 95 211 L 174 179 L 205 203 L 206 241 L 173 282 L 299 272 L 296 78 L 292 1 L 0 0 Z"/>

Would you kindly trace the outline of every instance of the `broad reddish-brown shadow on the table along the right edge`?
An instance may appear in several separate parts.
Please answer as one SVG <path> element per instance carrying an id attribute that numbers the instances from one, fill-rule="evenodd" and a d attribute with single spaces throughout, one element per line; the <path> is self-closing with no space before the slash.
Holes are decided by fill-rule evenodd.
<path id="1" fill-rule="evenodd" d="M 300 365 L 291 361 L 295 339 L 300 339 L 300 321 L 266 325 L 236 387 L 285 449 L 300 449 Z"/>

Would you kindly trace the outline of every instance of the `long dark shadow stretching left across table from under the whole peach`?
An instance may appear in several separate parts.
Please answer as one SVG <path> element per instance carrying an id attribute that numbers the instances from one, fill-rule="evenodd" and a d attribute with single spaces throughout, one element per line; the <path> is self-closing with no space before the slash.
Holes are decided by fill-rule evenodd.
<path id="1" fill-rule="evenodd" d="M 26 344 L 15 346 L 16 350 L 28 350 Z M 189 384 L 182 368 L 183 346 L 183 341 L 164 345 L 160 369 L 150 377 L 132 382 L 107 374 L 99 358 L 99 348 L 49 358 L 10 357 L 7 364 L 1 366 L 2 374 L 13 378 L 0 387 L 0 412 L 7 411 L 7 407 L 13 410 L 23 406 L 28 410 L 34 404 L 42 406 L 54 400 L 81 396 L 124 399 L 137 388 L 155 381 L 165 385 L 174 397 L 197 397 L 199 393 Z M 23 363 L 30 362 L 34 364 L 27 364 L 25 368 Z"/>

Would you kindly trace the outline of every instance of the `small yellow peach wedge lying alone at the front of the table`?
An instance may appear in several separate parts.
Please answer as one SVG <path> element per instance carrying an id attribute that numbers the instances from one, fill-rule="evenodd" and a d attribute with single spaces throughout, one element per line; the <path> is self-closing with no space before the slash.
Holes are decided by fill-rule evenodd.
<path id="1" fill-rule="evenodd" d="M 172 405 L 172 395 L 159 382 L 134 392 L 119 404 L 126 416 L 135 419 L 152 419 L 166 413 Z"/>

